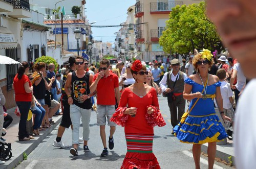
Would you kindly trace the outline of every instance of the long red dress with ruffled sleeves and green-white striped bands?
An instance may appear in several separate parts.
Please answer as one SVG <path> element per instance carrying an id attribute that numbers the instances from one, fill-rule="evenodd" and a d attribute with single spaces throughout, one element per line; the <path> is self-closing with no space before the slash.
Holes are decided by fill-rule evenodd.
<path id="1" fill-rule="evenodd" d="M 137 114 L 132 117 L 123 114 L 127 107 L 137 107 Z M 147 114 L 147 108 L 152 107 L 154 112 Z M 157 109 L 159 108 L 155 88 L 143 97 L 134 94 L 128 87 L 122 92 L 119 107 L 113 114 L 111 121 L 124 127 L 127 153 L 121 169 L 149 169 L 161 168 L 153 154 L 154 126 L 165 126 L 164 119 Z"/>

